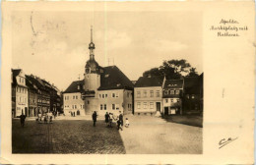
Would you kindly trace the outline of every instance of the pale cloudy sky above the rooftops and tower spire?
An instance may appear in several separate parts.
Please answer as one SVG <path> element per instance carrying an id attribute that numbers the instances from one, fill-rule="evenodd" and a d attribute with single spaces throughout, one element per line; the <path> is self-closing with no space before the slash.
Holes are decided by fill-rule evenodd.
<path id="1" fill-rule="evenodd" d="M 131 81 L 163 60 L 186 59 L 203 72 L 201 13 L 33 11 L 14 12 L 12 22 L 13 68 L 62 90 L 83 79 L 91 26 L 98 64 L 114 63 Z"/>

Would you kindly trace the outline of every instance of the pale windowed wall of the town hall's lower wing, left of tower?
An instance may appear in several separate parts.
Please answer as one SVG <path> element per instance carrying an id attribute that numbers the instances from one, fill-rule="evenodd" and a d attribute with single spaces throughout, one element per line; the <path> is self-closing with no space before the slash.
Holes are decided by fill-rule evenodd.
<path id="1" fill-rule="evenodd" d="M 63 108 L 64 113 L 67 116 L 71 116 L 70 112 L 75 112 L 77 115 L 77 111 L 80 111 L 81 116 L 85 116 L 85 102 L 81 98 L 80 92 L 75 93 L 64 93 L 63 94 Z"/>

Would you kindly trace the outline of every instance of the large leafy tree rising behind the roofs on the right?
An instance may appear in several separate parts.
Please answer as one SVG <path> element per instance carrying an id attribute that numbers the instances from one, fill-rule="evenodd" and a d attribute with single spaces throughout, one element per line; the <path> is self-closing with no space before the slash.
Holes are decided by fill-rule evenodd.
<path id="1" fill-rule="evenodd" d="M 181 77 L 197 77 L 196 68 L 184 59 L 163 61 L 159 68 L 153 68 L 143 73 L 143 77 L 165 76 L 166 79 L 180 79 Z"/>

